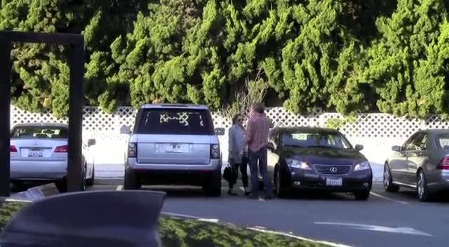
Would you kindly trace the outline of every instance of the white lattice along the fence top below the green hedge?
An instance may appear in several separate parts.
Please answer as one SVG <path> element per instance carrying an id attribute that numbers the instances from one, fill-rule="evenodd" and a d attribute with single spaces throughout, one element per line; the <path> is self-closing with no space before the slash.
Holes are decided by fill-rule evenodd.
<path id="1" fill-rule="evenodd" d="M 102 112 L 98 107 L 84 107 L 83 131 L 101 139 L 125 140 L 119 128 L 123 125 L 133 126 L 137 112 L 132 107 L 120 107 L 114 114 Z M 215 127 L 229 128 L 231 119 L 213 112 Z M 286 112 L 282 107 L 267 109 L 276 126 L 325 126 L 329 119 L 342 119 L 341 114 L 314 112 L 309 116 L 301 116 Z M 24 112 L 13 107 L 11 125 L 31 122 L 67 123 L 67 119 L 55 119 L 49 113 Z M 354 138 L 406 138 L 413 132 L 423 128 L 449 128 L 449 121 L 441 116 L 431 115 L 426 120 L 410 117 L 396 117 L 390 114 L 358 114 L 356 120 L 347 123 L 340 129 L 348 137 Z M 227 136 L 220 137 L 226 141 Z"/>

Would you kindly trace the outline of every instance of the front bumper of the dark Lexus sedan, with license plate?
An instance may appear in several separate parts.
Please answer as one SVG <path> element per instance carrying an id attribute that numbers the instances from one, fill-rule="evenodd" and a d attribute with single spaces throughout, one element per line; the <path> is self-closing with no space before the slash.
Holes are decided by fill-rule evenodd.
<path id="1" fill-rule="evenodd" d="M 342 185 L 326 185 L 326 180 L 341 178 Z M 373 185 L 373 175 L 370 171 L 360 171 L 344 176 L 317 175 L 311 173 L 294 173 L 291 175 L 290 186 L 300 190 L 323 190 L 330 192 L 359 192 L 370 190 Z"/>

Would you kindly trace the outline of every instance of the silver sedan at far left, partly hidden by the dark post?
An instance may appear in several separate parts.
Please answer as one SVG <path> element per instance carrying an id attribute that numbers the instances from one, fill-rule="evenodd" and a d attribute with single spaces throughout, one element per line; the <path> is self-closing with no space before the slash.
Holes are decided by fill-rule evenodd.
<path id="1" fill-rule="evenodd" d="M 24 123 L 11 130 L 11 182 L 22 187 L 25 181 L 56 182 L 60 192 L 67 191 L 67 138 L 69 126 L 60 123 Z M 93 185 L 94 158 L 83 143 L 83 185 Z"/>

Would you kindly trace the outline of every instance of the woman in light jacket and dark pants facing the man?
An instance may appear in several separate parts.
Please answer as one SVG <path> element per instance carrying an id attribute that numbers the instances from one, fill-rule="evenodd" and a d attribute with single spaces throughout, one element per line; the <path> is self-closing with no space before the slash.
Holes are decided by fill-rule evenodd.
<path id="1" fill-rule="evenodd" d="M 236 195 L 232 191 L 234 185 L 239 178 L 239 170 L 241 172 L 241 179 L 243 182 L 243 188 L 245 189 L 245 194 L 248 195 L 248 173 L 246 173 L 246 167 L 248 165 L 248 150 L 246 146 L 246 130 L 243 127 L 243 115 L 236 114 L 232 118 L 232 126 L 228 131 L 229 140 L 229 165 L 234 171 L 234 178 L 229 181 L 229 191 L 228 194 Z"/>

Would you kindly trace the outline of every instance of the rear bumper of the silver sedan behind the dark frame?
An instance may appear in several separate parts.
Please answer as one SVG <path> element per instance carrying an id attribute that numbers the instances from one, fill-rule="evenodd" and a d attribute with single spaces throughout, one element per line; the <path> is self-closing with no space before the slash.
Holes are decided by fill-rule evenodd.
<path id="1" fill-rule="evenodd" d="M 60 180 L 67 177 L 67 160 L 11 160 L 11 180 Z"/>

